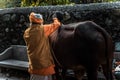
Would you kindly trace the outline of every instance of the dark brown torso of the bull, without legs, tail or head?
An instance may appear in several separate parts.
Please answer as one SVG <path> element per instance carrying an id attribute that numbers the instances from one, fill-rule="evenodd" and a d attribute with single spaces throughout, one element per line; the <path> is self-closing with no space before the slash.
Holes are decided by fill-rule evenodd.
<path id="1" fill-rule="evenodd" d="M 105 38 L 91 22 L 80 22 L 62 26 L 52 34 L 53 50 L 64 66 L 86 64 L 105 60 Z M 53 38 L 54 36 L 54 38 Z"/>

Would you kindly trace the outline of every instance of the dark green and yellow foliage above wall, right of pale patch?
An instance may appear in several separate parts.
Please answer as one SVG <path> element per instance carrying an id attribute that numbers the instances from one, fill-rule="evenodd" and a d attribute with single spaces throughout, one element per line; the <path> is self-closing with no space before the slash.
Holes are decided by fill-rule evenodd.
<path id="1" fill-rule="evenodd" d="M 22 0 L 21 7 L 26 6 L 47 6 L 47 5 L 69 5 L 69 4 L 87 4 L 100 2 L 115 2 L 120 0 Z"/>

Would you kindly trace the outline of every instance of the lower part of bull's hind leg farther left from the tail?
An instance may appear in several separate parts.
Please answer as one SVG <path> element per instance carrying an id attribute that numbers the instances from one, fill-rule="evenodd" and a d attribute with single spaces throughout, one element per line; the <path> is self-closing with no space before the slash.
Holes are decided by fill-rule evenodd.
<path id="1" fill-rule="evenodd" d="M 86 72 L 87 72 L 88 80 L 98 80 L 97 67 L 91 65 L 87 68 Z"/>

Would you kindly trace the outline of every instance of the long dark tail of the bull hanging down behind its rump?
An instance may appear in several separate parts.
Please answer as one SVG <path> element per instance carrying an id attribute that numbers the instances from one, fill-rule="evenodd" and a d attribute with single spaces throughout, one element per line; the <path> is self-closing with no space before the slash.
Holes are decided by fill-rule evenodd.
<path id="1" fill-rule="evenodd" d="M 105 45 L 106 45 L 106 52 L 105 52 L 105 57 L 106 57 L 106 64 L 103 64 L 103 72 L 104 75 L 106 76 L 107 80 L 113 80 L 112 76 L 112 60 L 113 60 L 113 53 L 114 53 L 114 46 L 113 46 L 113 41 L 111 36 L 99 25 L 90 22 L 90 26 L 93 26 L 97 31 L 99 31 L 105 39 Z"/>

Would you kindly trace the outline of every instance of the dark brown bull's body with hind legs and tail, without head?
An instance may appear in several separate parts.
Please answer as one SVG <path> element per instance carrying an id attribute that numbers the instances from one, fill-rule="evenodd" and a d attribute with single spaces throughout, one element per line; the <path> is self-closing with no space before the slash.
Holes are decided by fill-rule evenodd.
<path id="1" fill-rule="evenodd" d="M 85 68 L 88 80 L 97 80 L 97 69 L 101 65 L 107 80 L 112 77 L 114 47 L 111 36 L 91 21 L 62 25 L 50 35 L 56 56 L 56 67 L 75 70 Z M 57 72 L 56 72 L 57 73 Z"/>

